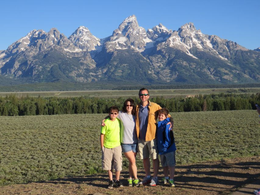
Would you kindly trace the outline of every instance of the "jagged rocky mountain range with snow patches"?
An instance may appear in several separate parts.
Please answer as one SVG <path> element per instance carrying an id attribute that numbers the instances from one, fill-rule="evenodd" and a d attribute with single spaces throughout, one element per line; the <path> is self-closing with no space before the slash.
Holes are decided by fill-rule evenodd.
<path id="1" fill-rule="evenodd" d="M 260 82 L 260 48 L 249 50 L 193 23 L 147 31 L 135 15 L 99 39 L 80 26 L 69 37 L 52 28 L 32 30 L 0 51 L 1 83 L 115 82 L 240 84 Z"/>

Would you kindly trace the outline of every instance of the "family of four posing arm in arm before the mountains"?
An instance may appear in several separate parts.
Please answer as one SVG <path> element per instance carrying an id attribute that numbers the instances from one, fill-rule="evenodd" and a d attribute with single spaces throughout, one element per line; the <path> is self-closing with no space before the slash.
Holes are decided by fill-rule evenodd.
<path id="1" fill-rule="evenodd" d="M 109 108 L 109 116 L 102 121 L 100 146 L 102 149 L 102 168 L 108 171 L 108 188 L 122 187 L 119 180 L 122 170 L 122 151 L 129 161 L 128 186 L 167 184 L 174 187 L 175 151 L 173 118 L 166 108 L 149 101 L 149 90 L 139 90 L 140 103 L 126 99 L 122 111 L 116 106 Z M 158 123 L 156 120 L 159 120 Z M 137 153 L 143 160 L 145 177 L 140 182 L 137 177 L 135 158 Z M 164 178 L 158 181 L 159 159 Z M 150 158 L 153 164 L 153 177 L 150 172 Z M 116 180 L 113 181 L 112 171 Z"/>

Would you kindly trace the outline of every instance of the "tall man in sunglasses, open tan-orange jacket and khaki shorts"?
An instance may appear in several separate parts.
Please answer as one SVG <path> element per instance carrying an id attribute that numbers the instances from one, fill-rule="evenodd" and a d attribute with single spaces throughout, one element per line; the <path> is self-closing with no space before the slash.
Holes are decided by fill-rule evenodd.
<path id="1" fill-rule="evenodd" d="M 140 182 L 141 185 L 149 184 L 156 186 L 158 184 L 159 159 L 157 151 L 156 120 L 158 110 L 161 109 L 156 103 L 149 101 L 148 89 L 142 88 L 139 90 L 139 98 L 141 102 L 136 106 L 136 130 L 138 137 L 138 153 L 143 159 L 145 177 Z M 171 115 L 168 115 L 171 117 Z M 170 128 L 173 126 L 173 119 L 170 118 Z M 153 161 L 154 176 L 151 178 L 150 160 Z"/>

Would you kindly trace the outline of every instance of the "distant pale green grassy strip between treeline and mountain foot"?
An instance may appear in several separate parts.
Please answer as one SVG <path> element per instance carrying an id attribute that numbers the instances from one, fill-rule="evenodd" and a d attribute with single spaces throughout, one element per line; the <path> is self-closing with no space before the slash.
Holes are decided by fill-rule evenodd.
<path id="1" fill-rule="evenodd" d="M 0 92 L 0 96 L 16 95 L 18 97 L 137 97 L 139 90 L 88 90 L 88 91 L 25 91 L 25 92 Z M 149 90 L 150 96 L 187 96 L 198 94 L 218 94 L 218 93 L 259 93 L 260 88 L 216 88 L 216 89 L 162 89 Z"/>

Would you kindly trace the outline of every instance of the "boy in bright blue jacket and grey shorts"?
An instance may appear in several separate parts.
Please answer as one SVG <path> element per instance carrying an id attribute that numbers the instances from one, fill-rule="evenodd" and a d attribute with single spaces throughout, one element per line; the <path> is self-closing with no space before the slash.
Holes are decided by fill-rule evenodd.
<path id="1" fill-rule="evenodd" d="M 175 151 L 176 146 L 174 143 L 173 131 L 169 130 L 168 118 L 169 111 L 166 108 L 162 108 L 158 111 L 158 128 L 157 128 L 157 147 L 158 153 L 161 157 L 161 164 L 163 167 L 164 178 L 160 184 L 168 184 L 170 187 L 174 187 L 174 172 L 175 172 Z M 168 171 L 170 172 L 170 179 L 168 176 Z"/>

